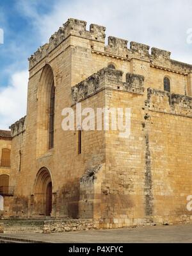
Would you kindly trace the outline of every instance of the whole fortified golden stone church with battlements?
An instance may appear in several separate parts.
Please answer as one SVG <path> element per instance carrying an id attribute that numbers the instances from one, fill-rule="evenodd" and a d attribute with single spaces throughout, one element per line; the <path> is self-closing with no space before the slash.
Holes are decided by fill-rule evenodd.
<path id="1" fill-rule="evenodd" d="M 105 31 L 68 19 L 29 58 L 6 216 L 93 219 L 97 228 L 192 221 L 192 67 L 137 42 L 109 37 L 106 46 Z M 63 131 L 61 112 L 76 103 L 131 108 L 130 136 Z"/>

